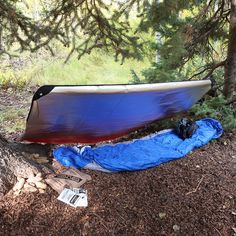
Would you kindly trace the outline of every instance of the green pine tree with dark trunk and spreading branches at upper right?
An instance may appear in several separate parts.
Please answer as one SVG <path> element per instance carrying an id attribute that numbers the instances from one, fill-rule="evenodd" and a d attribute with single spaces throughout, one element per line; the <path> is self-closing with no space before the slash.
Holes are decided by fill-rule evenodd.
<path id="1" fill-rule="evenodd" d="M 207 78 L 224 68 L 224 95 L 236 91 L 236 1 L 151 1 L 142 12 L 140 31 L 157 32 L 159 62 L 144 72 L 149 81 Z M 192 66 L 187 78 L 186 68 Z M 183 73 L 185 70 L 185 73 Z"/>

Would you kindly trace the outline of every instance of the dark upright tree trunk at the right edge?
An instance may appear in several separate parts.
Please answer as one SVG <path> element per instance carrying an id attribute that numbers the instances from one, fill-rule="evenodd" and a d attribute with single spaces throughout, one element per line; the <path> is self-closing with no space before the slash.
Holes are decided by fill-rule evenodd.
<path id="1" fill-rule="evenodd" d="M 231 0 L 229 43 L 224 79 L 224 95 L 232 100 L 236 90 L 236 0 Z"/>

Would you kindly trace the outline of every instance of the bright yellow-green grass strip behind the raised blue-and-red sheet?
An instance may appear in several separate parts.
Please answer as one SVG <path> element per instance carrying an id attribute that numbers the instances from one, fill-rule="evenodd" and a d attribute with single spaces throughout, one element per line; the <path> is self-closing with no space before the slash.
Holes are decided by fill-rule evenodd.
<path id="1" fill-rule="evenodd" d="M 73 57 L 64 64 L 66 55 L 64 52 L 64 57 L 48 56 L 42 59 L 39 56 L 18 70 L 11 67 L 0 69 L 0 86 L 24 88 L 48 84 L 127 84 L 132 78 L 132 70 L 141 76 L 140 72 L 148 66 L 147 61 L 134 59 L 127 59 L 121 65 L 120 62 L 114 60 L 112 54 L 99 50 L 85 55 L 80 60 Z"/>

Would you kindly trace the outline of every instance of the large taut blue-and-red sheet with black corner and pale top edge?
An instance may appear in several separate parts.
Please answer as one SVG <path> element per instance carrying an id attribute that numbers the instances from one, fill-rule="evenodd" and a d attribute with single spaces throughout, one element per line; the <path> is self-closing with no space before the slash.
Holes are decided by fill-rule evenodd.
<path id="1" fill-rule="evenodd" d="M 138 85 L 43 86 L 34 94 L 22 140 L 97 143 L 188 110 L 210 80 Z"/>

